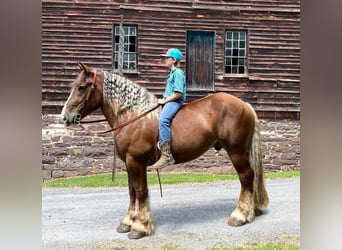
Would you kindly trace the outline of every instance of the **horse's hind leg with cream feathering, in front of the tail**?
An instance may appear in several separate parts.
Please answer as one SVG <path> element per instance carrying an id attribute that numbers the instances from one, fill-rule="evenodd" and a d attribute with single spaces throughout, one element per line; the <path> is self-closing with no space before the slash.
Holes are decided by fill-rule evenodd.
<path id="1" fill-rule="evenodd" d="M 255 217 L 253 198 L 254 172 L 250 168 L 247 153 L 234 153 L 229 156 L 239 175 L 241 191 L 238 204 L 231 213 L 228 224 L 230 226 L 241 226 L 253 221 Z"/>

